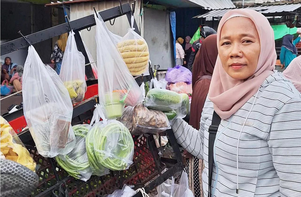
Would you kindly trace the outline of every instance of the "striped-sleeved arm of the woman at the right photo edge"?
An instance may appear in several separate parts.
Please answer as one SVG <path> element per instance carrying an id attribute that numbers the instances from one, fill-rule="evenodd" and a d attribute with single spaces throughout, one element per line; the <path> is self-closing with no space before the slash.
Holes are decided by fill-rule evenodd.
<path id="1" fill-rule="evenodd" d="M 301 196 L 301 99 L 293 98 L 276 112 L 267 136 L 282 196 Z"/>

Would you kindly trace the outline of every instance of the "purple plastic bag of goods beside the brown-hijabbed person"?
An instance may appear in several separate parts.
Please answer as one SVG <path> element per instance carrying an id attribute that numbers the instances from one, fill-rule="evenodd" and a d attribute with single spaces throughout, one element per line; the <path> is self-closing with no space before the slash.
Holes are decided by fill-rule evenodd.
<path id="1" fill-rule="evenodd" d="M 192 73 L 188 68 L 176 65 L 173 68 L 168 68 L 165 75 L 165 80 L 170 83 L 185 82 L 192 83 Z"/>

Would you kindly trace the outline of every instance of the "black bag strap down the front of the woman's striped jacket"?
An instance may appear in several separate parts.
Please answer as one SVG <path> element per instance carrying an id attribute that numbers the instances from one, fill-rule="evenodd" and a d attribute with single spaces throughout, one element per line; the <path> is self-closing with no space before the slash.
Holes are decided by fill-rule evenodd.
<path id="1" fill-rule="evenodd" d="M 208 197 L 211 197 L 211 182 L 212 182 L 212 168 L 213 168 L 213 145 L 215 141 L 215 136 L 219 124 L 221 123 L 221 118 L 216 112 L 213 112 L 212 123 L 209 127 L 209 142 L 208 142 L 208 169 L 209 169 L 209 187 L 208 187 Z"/>

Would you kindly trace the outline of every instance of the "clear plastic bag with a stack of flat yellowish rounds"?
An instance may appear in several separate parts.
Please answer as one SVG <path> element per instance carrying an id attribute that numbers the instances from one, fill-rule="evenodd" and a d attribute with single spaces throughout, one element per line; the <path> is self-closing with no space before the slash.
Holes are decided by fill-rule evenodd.
<path id="1" fill-rule="evenodd" d="M 134 30 L 134 16 L 132 16 L 132 28 L 118 42 L 117 47 L 133 76 L 149 75 L 149 51 L 146 41 Z"/>

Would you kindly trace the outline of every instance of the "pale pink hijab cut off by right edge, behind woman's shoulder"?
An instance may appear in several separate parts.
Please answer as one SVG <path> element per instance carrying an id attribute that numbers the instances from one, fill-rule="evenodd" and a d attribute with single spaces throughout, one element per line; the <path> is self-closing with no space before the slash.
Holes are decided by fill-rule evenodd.
<path id="1" fill-rule="evenodd" d="M 294 58 L 290 65 L 282 72 L 285 78 L 290 80 L 295 88 L 301 92 L 301 56 Z"/>

